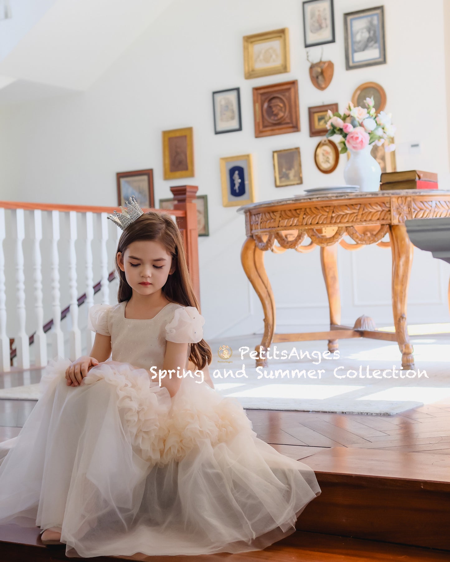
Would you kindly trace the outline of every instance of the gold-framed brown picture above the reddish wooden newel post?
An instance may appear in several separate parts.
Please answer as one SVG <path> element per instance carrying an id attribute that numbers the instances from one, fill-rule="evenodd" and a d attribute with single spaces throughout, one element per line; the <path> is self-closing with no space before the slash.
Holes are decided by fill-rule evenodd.
<path id="1" fill-rule="evenodd" d="M 192 127 L 163 131 L 164 179 L 194 178 Z"/>

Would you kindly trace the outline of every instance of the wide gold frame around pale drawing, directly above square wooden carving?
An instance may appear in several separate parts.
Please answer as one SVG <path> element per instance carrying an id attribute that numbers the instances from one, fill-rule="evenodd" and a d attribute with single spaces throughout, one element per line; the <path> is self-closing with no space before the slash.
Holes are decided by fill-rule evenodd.
<path id="1" fill-rule="evenodd" d="M 255 33 L 254 35 L 245 35 L 242 40 L 244 42 L 244 76 L 246 79 L 290 72 L 288 28 L 264 31 L 264 33 Z M 255 66 L 255 46 L 258 47 L 269 41 L 280 42 L 280 62 L 257 68 Z M 272 52 L 272 55 L 273 54 Z M 264 56 L 264 53 L 261 52 L 260 55 Z M 270 56 L 271 53 L 266 52 L 266 55 Z"/>

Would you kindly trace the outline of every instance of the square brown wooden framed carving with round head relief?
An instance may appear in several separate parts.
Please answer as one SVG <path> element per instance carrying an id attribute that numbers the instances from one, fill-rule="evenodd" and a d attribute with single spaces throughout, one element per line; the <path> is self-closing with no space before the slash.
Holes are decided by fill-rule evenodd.
<path id="1" fill-rule="evenodd" d="M 255 137 L 268 137 L 300 130 L 297 80 L 253 88 Z"/>

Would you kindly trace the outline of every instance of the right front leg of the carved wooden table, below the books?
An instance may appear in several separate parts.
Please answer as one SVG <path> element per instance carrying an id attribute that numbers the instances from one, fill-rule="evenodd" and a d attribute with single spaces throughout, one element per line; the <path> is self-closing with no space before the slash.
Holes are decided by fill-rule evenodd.
<path id="1" fill-rule="evenodd" d="M 404 224 L 390 225 L 389 231 L 392 250 L 392 311 L 394 313 L 395 334 L 397 335 L 398 347 L 402 352 L 402 368 L 412 369 L 414 357 L 412 345 L 409 343 L 406 308 L 413 246 Z"/>

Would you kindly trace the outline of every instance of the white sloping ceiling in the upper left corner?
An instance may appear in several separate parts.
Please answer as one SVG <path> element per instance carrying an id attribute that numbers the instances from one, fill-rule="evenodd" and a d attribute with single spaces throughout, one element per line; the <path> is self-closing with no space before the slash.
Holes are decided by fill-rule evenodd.
<path id="1" fill-rule="evenodd" d="M 20 2 L 0 21 L 1 102 L 88 89 L 173 0 L 33 0 L 33 17 Z"/>

